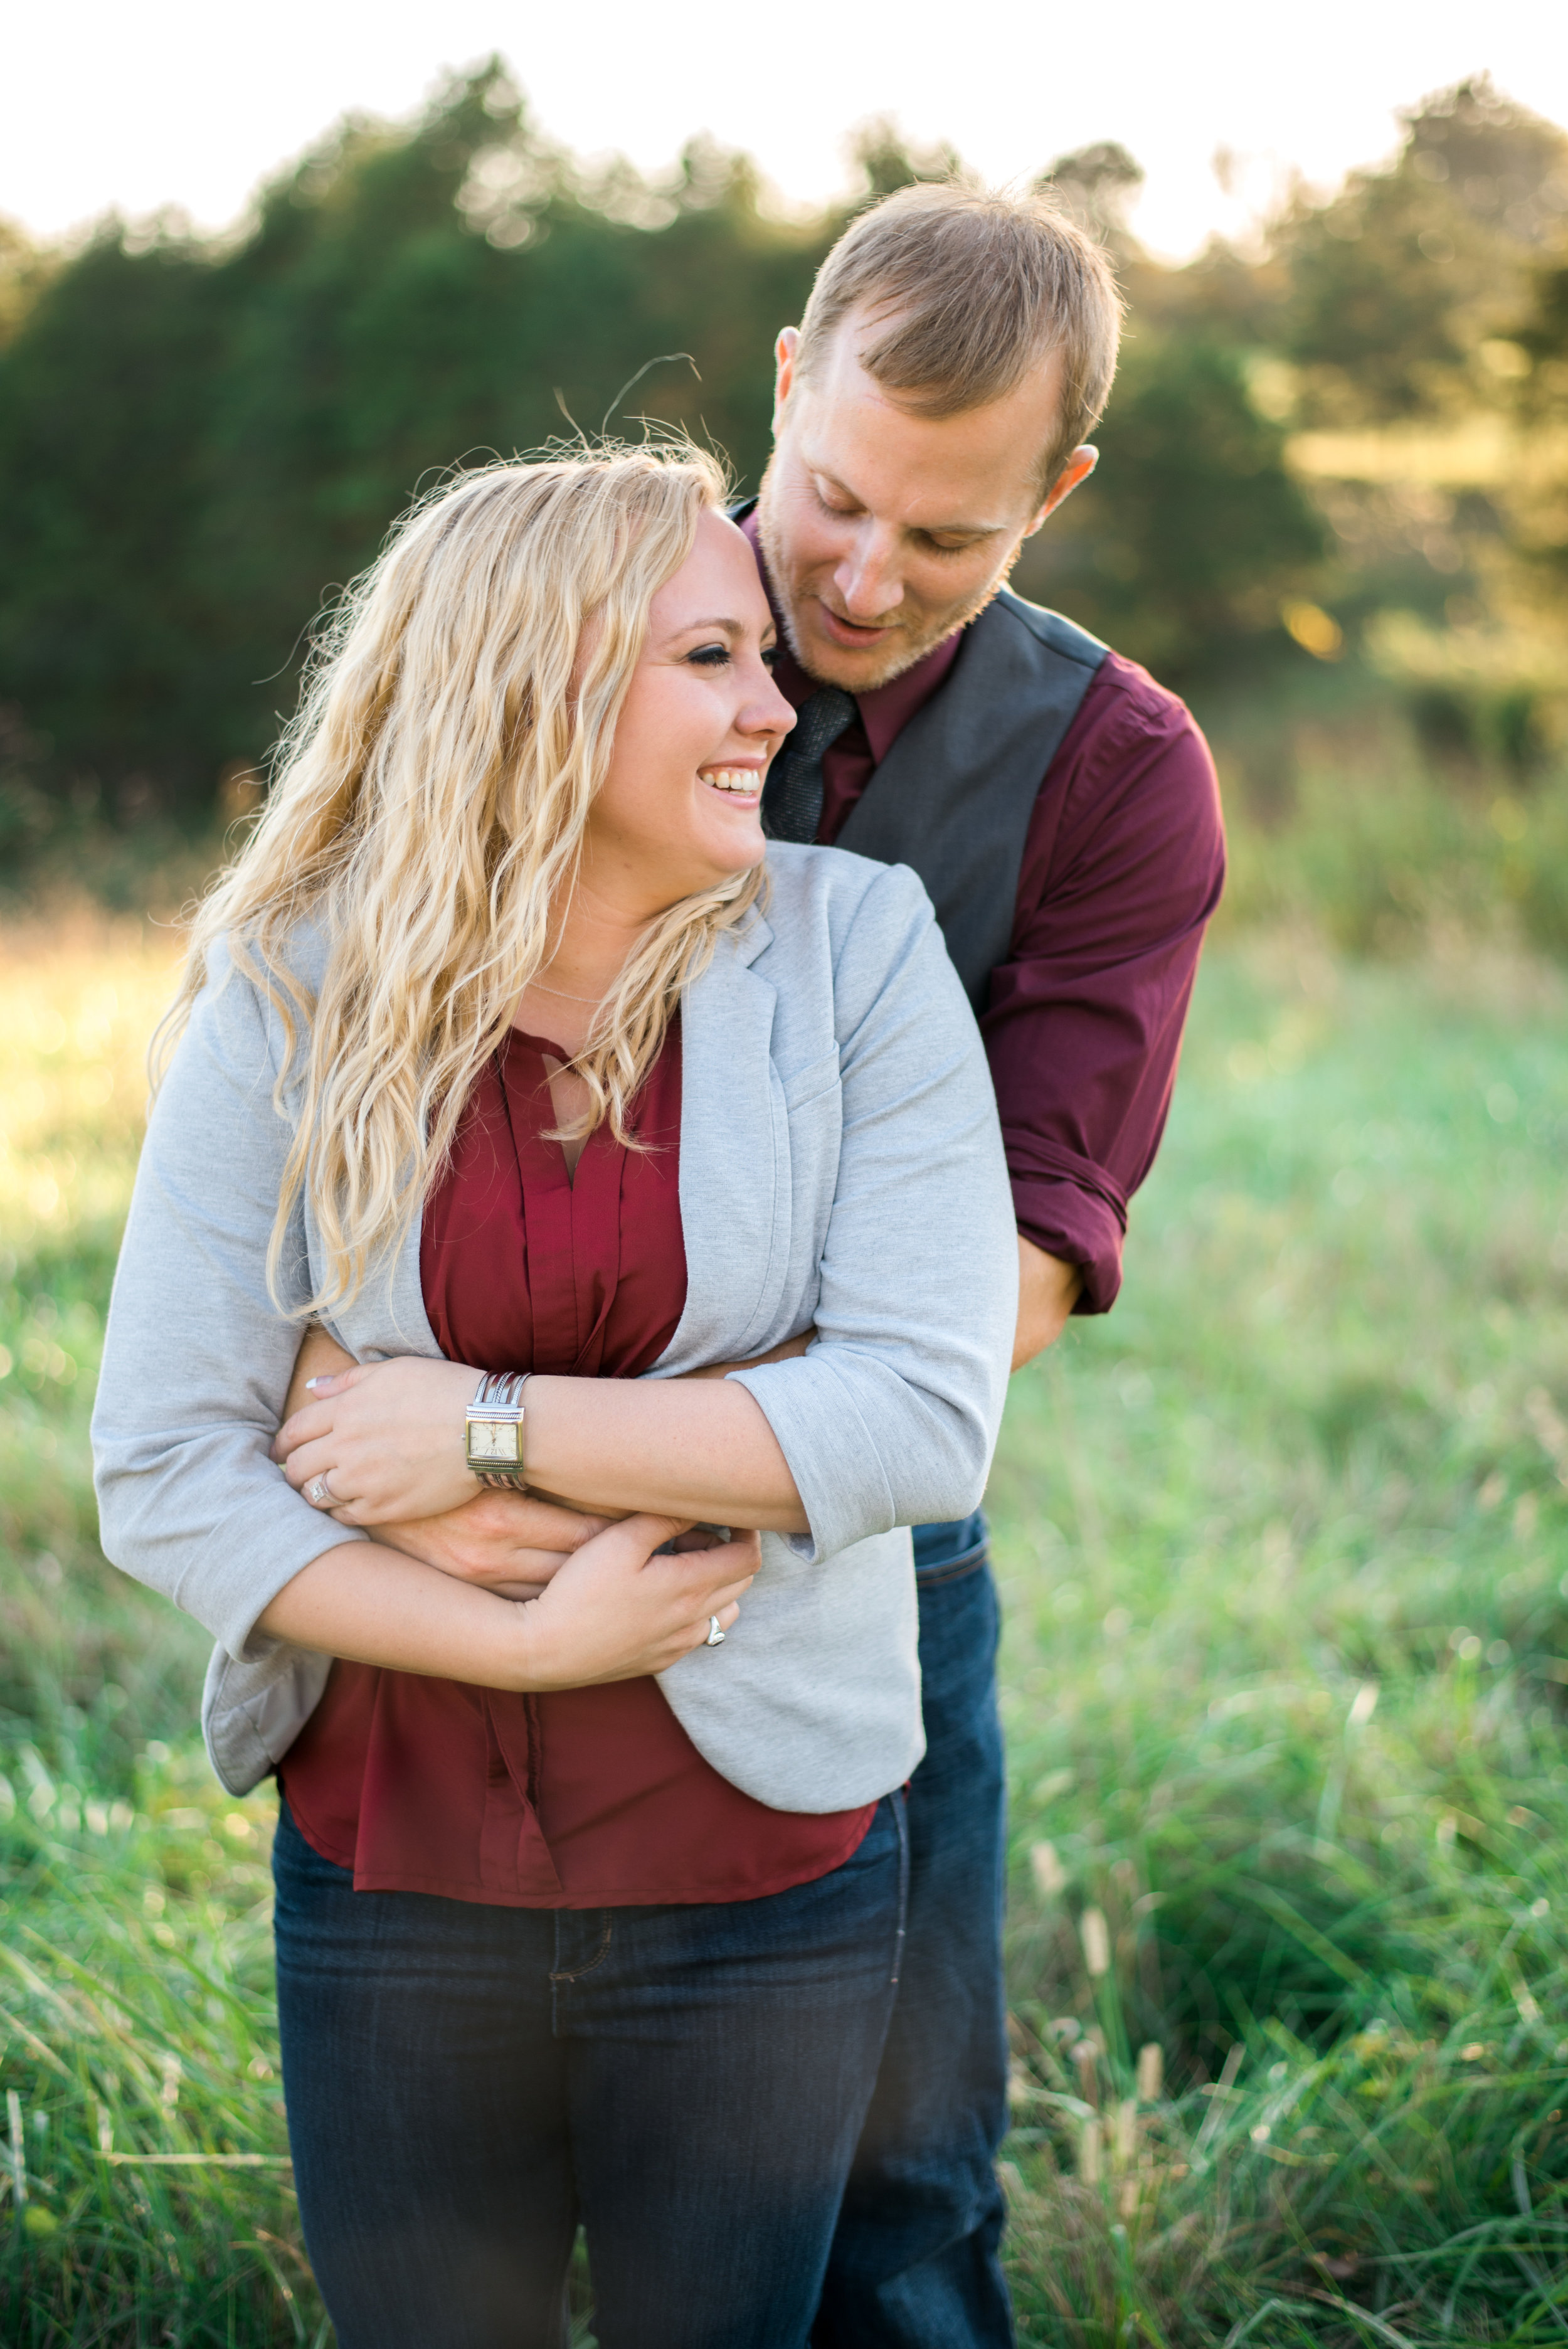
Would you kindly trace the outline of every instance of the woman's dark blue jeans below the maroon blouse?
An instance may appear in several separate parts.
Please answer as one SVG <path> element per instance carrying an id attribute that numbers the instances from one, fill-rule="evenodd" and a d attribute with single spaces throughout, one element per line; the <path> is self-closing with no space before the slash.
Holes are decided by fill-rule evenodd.
<path id="1" fill-rule="evenodd" d="M 277 2006 L 338 2349 L 800 2349 L 894 2001 L 908 1837 L 692 1907 L 357 1893 L 284 1806 Z"/>

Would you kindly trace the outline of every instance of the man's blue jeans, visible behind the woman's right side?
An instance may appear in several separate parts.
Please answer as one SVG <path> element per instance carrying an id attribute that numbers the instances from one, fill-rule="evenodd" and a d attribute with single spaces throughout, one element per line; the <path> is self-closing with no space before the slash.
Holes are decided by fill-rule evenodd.
<path id="1" fill-rule="evenodd" d="M 1007 2349 L 1007 1790 L 986 1520 L 915 1529 L 925 1762 L 908 1788 L 904 1978 L 815 2349 Z"/>

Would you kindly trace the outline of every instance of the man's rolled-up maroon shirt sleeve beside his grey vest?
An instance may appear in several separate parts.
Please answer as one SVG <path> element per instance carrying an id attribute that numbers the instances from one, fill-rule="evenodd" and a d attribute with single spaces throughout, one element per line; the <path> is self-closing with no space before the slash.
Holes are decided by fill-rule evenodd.
<path id="1" fill-rule="evenodd" d="M 1223 881 L 1209 745 L 1108 653 L 1040 787 L 981 1019 L 1019 1231 L 1082 1266 L 1080 1313 L 1122 1285 L 1127 1203 L 1160 1149 Z"/>

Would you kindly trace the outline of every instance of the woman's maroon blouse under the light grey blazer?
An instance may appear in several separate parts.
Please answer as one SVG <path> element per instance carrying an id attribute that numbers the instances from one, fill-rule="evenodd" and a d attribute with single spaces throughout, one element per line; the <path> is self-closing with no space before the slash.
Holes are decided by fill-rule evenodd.
<path id="1" fill-rule="evenodd" d="M 681 1031 L 627 1151 L 606 1125 L 566 1170 L 540 1036 L 512 1029 L 425 1205 L 425 1311 L 455 1362 L 631 1379 L 685 1308 Z M 657 1680 L 514 1696 L 333 1663 L 279 1778 L 354 1891 L 491 1907 L 753 1900 L 850 1858 L 876 1804 L 770 1811 L 702 1759 Z"/>

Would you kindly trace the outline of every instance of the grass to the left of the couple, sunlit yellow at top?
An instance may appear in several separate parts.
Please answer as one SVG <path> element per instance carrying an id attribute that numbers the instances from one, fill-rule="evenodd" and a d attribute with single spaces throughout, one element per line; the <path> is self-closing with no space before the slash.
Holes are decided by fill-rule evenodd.
<path id="1" fill-rule="evenodd" d="M 87 1416 L 169 970 L 167 937 L 87 918 L 0 958 L 7 2349 L 329 2337 L 277 2086 L 272 1804 L 221 1792 L 190 1736 L 207 1642 L 94 1539 Z"/>

